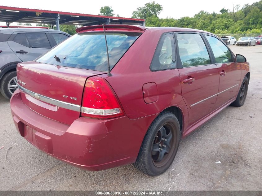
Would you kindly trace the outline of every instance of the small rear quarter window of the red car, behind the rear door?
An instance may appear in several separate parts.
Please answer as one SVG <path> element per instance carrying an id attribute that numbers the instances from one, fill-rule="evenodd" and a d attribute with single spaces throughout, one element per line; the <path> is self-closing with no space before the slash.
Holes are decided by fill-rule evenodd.
<path id="1" fill-rule="evenodd" d="M 173 69 L 175 65 L 175 42 L 173 34 L 165 34 L 161 37 L 154 54 L 150 69 L 153 71 Z"/>

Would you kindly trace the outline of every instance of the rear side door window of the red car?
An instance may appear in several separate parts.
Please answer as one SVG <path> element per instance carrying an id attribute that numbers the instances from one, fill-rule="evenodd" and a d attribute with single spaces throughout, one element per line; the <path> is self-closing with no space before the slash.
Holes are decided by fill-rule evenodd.
<path id="1" fill-rule="evenodd" d="M 181 33 L 176 36 L 183 67 L 211 64 L 205 43 L 199 34 Z"/>

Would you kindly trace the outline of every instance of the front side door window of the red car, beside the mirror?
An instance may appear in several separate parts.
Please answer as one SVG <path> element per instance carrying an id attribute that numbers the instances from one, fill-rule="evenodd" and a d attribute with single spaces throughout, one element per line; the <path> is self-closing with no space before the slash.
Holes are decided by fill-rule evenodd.
<path id="1" fill-rule="evenodd" d="M 233 62 L 230 50 L 216 37 L 206 35 L 215 56 L 215 63 Z"/>

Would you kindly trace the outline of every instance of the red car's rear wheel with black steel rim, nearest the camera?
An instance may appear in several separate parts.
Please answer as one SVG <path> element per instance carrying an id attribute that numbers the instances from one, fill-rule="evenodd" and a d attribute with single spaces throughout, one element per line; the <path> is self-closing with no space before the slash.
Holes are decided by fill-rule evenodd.
<path id="1" fill-rule="evenodd" d="M 134 166 L 149 176 L 165 172 L 172 164 L 180 141 L 180 124 L 171 112 L 162 112 L 150 125 Z"/>

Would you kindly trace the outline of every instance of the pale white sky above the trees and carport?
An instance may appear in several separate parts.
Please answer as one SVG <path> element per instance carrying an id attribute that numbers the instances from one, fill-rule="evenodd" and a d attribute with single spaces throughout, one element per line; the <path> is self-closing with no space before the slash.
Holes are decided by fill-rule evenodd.
<path id="1" fill-rule="evenodd" d="M 212 0 L 187 0 L 187 1 L 175 1 L 175 0 L 155 0 L 156 3 L 162 5 L 163 10 L 159 15 L 159 18 L 172 17 L 175 19 L 197 14 L 199 11 L 204 10 L 212 13 L 213 11 L 219 13 L 219 11 L 225 7 L 233 11 L 233 5 L 240 5 L 240 8 L 244 4 L 252 4 L 259 0 L 227 0 L 227 1 L 212 1 Z M 38 3 L 41 2 L 41 3 Z M 68 2 L 68 3 L 67 3 Z M 84 14 L 99 14 L 100 7 L 112 6 L 114 14 L 119 14 L 120 17 L 131 17 L 132 11 L 136 10 L 137 7 L 144 6 L 145 3 L 153 2 L 152 0 L 132 0 L 132 1 L 61 1 L 59 0 L 44 0 L 44 1 L 32 1 L 32 0 L 11 0 L 2 1 L 2 6 L 11 7 L 22 7 L 22 8 L 32 8 L 32 9 L 42 9 L 42 10 L 52 10 L 52 11 L 65 11 L 65 12 L 75 12 Z M 0 22 L 0 24 L 5 24 Z M 32 24 L 33 25 L 33 24 Z"/>

